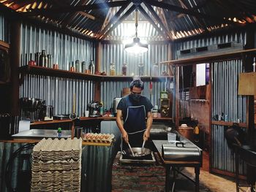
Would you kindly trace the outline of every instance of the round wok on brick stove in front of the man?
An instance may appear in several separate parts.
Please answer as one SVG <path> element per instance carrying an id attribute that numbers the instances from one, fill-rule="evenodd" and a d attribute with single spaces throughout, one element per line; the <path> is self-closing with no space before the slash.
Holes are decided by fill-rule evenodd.
<path id="1" fill-rule="evenodd" d="M 132 151 L 135 154 L 135 156 L 132 155 Z M 123 150 L 122 154 L 124 158 L 129 158 L 129 159 L 144 159 L 148 158 L 151 156 L 151 150 L 148 148 L 143 148 L 142 147 L 132 147 L 132 151 L 130 149 Z"/>

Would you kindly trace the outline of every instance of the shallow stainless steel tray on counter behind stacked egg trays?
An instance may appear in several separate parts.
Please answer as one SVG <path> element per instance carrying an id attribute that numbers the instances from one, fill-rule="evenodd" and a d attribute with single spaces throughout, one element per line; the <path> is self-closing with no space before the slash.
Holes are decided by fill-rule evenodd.
<path id="1" fill-rule="evenodd" d="M 30 129 L 28 131 L 21 131 L 18 134 L 12 135 L 13 139 L 42 139 L 42 138 L 56 138 L 57 130 L 48 129 Z M 71 137 L 70 130 L 62 130 L 61 138 Z"/>

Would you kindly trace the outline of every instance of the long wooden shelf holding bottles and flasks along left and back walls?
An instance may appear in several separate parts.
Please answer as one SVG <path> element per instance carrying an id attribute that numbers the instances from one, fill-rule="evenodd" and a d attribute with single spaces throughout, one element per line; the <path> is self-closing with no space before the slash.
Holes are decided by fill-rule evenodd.
<path id="1" fill-rule="evenodd" d="M 80 79 L 80 80 L 94 80 L 94 81 L 132 81 L 132 76 L 105 76 L 98 74 L 85 74 L 79 72 L 69 72 L 62 69 L 51 69 L 43 66 L 21 66 L 20 73 L 25 74 L 38 74 L 50 77 L 63 77 L 70 79 Z M 143 81 L 152 82 L 164 82 L 165 80 L 172 80 L 173 76 L 142 76 L 140 77 Z"/>

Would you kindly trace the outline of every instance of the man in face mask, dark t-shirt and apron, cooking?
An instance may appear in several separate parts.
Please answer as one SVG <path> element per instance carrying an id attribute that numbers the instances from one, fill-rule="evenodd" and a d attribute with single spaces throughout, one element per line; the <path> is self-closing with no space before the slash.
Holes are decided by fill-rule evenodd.
<path id="1" fill-rule="evenodd" d="M 129 88 L 131 93 L 124 96 L 116 107 L 116 124 L 123 138 L 121 150 L 128 148 L 128 142 L 132 147 L 142 147 L 143 140 L 146 141 L 149 138 L 153 121 L 151 113 L 153 105 L 146 96 L 141 96 L 143 82 L 133 80 Z"/>

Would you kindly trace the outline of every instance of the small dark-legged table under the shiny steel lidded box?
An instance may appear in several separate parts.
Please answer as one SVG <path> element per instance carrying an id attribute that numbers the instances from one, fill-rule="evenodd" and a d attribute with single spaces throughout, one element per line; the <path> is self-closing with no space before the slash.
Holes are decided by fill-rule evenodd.
<path id="1" fill-rule="evenodd" d="M 188 139 L 185 139 L 184 137 L 181 137 L 181 142 L 190 142 Z M 174 191 L 175 187 L 175 180 L 176 180 L 176 172 L 186 177 L 188 180 L 192 181 L 192 183 L 195 184 L 195 191 L 199 192 L 199 174 L 200 174 L 200 167 L 202 166 L 203 162 L 203 155 L 200 153 L 200 156 L 198 157 L 197 161 L 182 161 L 182 160 L 166 160 L 162 156 L 162 145 L 168 144 L 166 140 L 153 140 L 154 145 L 157 147 L 157 151 L 159 153 L 159 157 L 161 158 L 161 161 L 165 165 L 165 191 L 170 191 L 170 183 L 172 184 L 171 191 Z M 191 142 L 192 143 L 192 142 Z M 192 145 L 194 145 L 192 143 Z M 195 147 L 197 147 L 195 145 Z M 200 150 L 201 151 L 201 150 Z M 178 167 L 194 167 L 195 168 L 195 180 L 192 180 L 189 178 L 186 174 L 178 171 Z M 170 173 L 173 171 L 173 179 L 170 177 Z"/>

